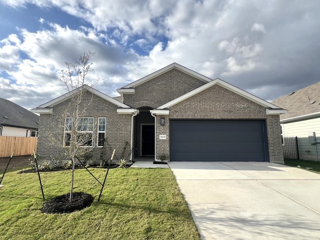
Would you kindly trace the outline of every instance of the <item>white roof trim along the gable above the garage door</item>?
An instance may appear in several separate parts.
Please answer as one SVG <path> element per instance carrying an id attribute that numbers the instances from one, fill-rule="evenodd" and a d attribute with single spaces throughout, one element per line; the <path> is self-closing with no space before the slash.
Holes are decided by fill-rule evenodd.
<path id="1" fill-rule="evenodd" d="M 195 94 L 197 94 L 197 93 L 199 93 L 199 92 L 201 92 L 201 91 L 203 91 L 203 90 L 205 90 L 205 89 L 207 89 L 207 88 L 209 88 L 209 87 L 211 87 L 211 86 L 213 86 L 215 84 L 220 85 L 220 86 L 222 86 L 222 87 L 224 87 L 224 88 L 226 88 L 226 89 L 228 89 L 230 91 L 233 91 L 233 92 L 237 93 L 238 95 L 241 95 L 241 96 L 243 96 L 243 97 L 245 97 L 245 98 L 247 98 L 247 99 L 249 99 L 249 100 L 251 100 L 253 102 L 256 102 L 256 103 L 268 108 L 267 109 L 267 114 L 281 114 L 281 113 L 286 112 L 286 110 L 284 110 L 284 109 L 282 109 L 282 108 L 280 108 L 280 107 L 278 107 L 278 106 L 276 106 L 276 105 L 274 105 L 274 104 L 272 104 L 272 103 L 270 103 L 268 101 L 265 101 L 265 100 L 255 96 L 255 95 L 252 95 L 252 94 L 250 94 L 250 93 L 248 93 L 248 92 L 246 92 L 246 91 L 244 91 L 244 90 L 242 90 L 242 89 L 240 89 L 240 88 L 238 88 L 236 86 L 233 86 L 230 83 L 222 81 L 219 78 L 215 78 L 214 80 L 212 80 L 212 81 L 210 81 L 210 82 L 208 82 L 208 83 L 206 83 L 206 84 L 204 84 L 202 86 L 199 86 L 198 88 L 195 88 L 194 90 L 189 91 L 188 93 L 185 93 L 184 95 L 179 96 L 178 98 L 175 98 L 172 101 L 169 101 L 169 102 L 159 106 L 157 109 L 169 108 L 170 106 L 172 106 L 172 105 L 174 105 L 174 104 L 176 104 L 176 103 L 178 103 L 180 101 L 183 101 L 183 100 L 185 100 L 185 99 L 187 99 L 187 98 L 189 98 L 189 97 L 191 97 L 191 96 L 193 96 L 193 95 L 195 95 Z M 272 112 L 272 110 L 276 110 L 276 111 Z"/>

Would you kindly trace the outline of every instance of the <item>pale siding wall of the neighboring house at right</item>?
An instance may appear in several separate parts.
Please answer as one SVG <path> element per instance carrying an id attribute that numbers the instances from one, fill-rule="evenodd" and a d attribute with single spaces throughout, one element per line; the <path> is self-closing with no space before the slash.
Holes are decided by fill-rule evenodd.
<path id="1" fill-rule="evenodd" d="M 284 123 L 283 129 L 284 136 L 298 137 L 300 159 L 320 160 L 320 118 Z M 309 143 L 308 135 L 313 131 L 319 143 Z"/>

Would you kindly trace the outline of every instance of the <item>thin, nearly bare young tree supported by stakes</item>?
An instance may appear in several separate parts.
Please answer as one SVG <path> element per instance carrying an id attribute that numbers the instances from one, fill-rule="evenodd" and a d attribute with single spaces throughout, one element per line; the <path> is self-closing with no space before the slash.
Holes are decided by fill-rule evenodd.
<path id="1" fill-rule="evenodd" d="M 63 149 L 72 162 L 71 186 L 69 201 L 72 201 L 74 167 L 76 160 L 91 151 L 96 141 L 93 140 L 93 118 L 87 117 L 93 93 L 87 86 L 94 86 L 99 79 L 92 81 L 88 74 L 92 71 L 91 59 L 95 52 L 84 52 L 74 63 L 65 62 L 66 68 L 61 70 L 60 81 L 70 94 L 68 107 L 64 112 Z M 61 144 L 61 143 L 60 143 Z"/>

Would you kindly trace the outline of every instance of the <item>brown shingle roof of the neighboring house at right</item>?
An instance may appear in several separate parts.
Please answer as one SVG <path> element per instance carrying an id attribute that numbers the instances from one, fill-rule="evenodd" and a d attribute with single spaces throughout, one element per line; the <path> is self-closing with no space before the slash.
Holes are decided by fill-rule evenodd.
<path id="1" fill-rule="evenodd" d="M 320 81 L 281 96 L 272 103 L 288 109 L 280 120 L 320 115 Z"/>

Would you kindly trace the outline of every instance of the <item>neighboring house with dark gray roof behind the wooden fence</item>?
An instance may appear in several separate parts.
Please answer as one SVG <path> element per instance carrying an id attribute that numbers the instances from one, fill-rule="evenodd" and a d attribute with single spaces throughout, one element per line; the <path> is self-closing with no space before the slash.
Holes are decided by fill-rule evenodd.
<path id="1" fill-rule="evenodd" d="M 0 136 L 37 136 L 39 116 L 0 98 Z"/>

